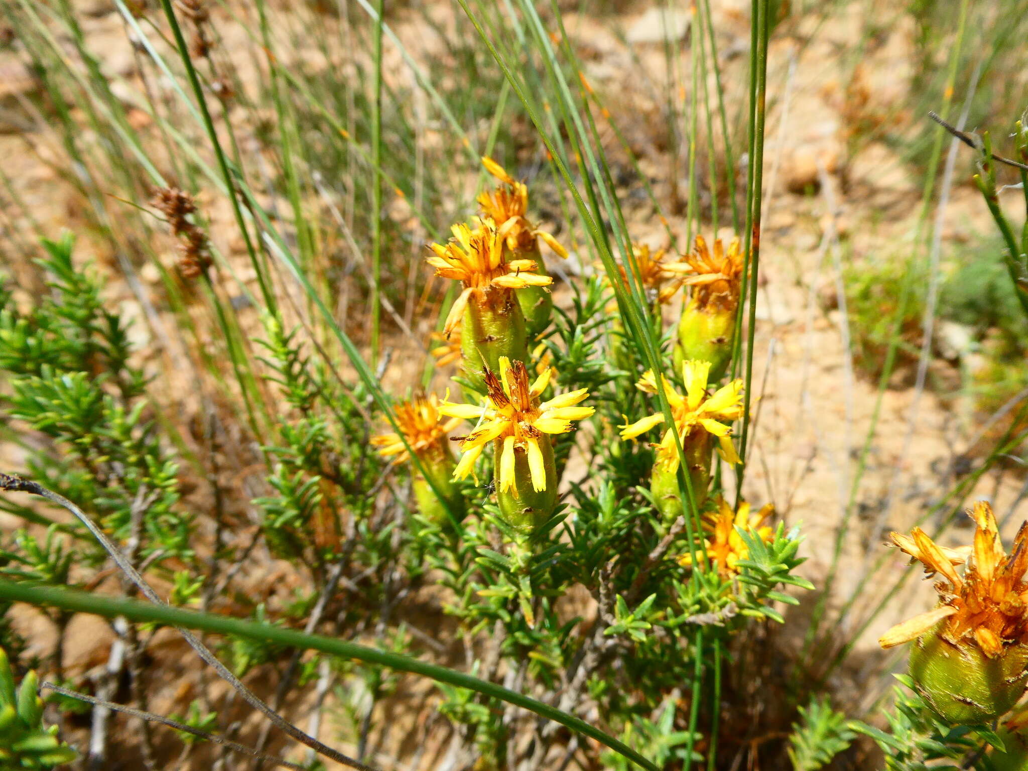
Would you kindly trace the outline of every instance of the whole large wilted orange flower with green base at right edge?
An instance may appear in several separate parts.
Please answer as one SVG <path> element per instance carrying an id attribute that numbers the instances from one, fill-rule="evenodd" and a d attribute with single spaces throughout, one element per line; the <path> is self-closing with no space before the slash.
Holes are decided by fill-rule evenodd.
<path id="1" fill-rule="evenodd" d="M 969 514 L 977 527 L 967 550 L 943 549 L 919 527 L 909 537 L 891 534 L 926 574 L 941 577 L 940 603 L 878 641 L 891 648 L 916 639 L 910 672 L 918 692 L 948 722 L 972 725 L 1003 714 L 1025 691 L 1028 522 L 1007 555 L 989 504 L 980 501 Z"/>

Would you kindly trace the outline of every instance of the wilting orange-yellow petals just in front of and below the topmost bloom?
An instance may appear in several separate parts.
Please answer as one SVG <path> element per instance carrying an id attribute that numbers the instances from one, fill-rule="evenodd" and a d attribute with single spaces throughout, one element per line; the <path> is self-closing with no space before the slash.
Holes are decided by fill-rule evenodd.
<path id="1" fill-rule="evenodd" d="M 482 220 L 474 230 L 468 225 L 453 225 L 452 230 L 453 237 L 448 244 L 431 246 L 434 254 L 427 260 L 436 269 L 436 276 L 464 284 L 464 291 L 453 301 L 446 317 L 443 328 L 446 334 L 461 323 L 472 295 L 481 298 L 492 287 L 523 289 L 553 283 L 549 276 L 535 272 L 534 260 L 507 260 L 504 257 L 503 240 L 492 220 Z"/>

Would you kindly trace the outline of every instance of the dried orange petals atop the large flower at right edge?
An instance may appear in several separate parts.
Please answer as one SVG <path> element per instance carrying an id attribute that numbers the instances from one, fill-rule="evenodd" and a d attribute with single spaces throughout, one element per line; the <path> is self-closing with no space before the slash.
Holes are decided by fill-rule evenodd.
<path id="1" fill-rule="evenodd" d="M 889 629 L 878 640 L 882 648 L 908 642 L 946 620 L 940 636 L 954 646 L 977 644 L 990 659 L 1004 644 L 1028 642 L 1028 522 L 1021 525 L 1007 555 L 999 541 L 996 518 L 985 501 L 968 512 L 978 525 L 975 543 L 963 550 L 938 546 L 920 528 L 910 536 L 891 534 L 892 543 L 924 564 L 935 583 L 939 607 Z M 961 573 L 956 566 L 963 564 Z"/>

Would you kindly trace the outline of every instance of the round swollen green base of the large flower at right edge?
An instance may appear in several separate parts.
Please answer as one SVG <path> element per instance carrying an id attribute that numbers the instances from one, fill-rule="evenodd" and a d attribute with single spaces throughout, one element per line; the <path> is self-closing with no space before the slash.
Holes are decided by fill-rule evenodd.
<path id="1" fill-rule="evenodd" d="M 999 718 L 1028 685 L 1028 646 L 1005 646 L 990 659 L 977 645 L 955 646 L 940 636 L 943 621 L 915 640 L 910 674 L 928 705 L 947 723 L 974 726 Z"/>

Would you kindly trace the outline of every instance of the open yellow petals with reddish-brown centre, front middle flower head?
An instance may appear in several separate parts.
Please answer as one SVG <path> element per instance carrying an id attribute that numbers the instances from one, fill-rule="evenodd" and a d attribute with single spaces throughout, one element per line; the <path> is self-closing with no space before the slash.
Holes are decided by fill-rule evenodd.
<path id="1" fill-rule="evenodd" d="M 514 487 L 515 452 L 527 453 L 531 485 L 536 491 L 546 489 L 546 469 L 539 447 L 544 434 L 566 434 L 574 431 L 573 420 L 591 415 L 593 407 L 575 406 L 589 396 L 585 389 L 555 396 L 540 404 L 539 396 L 546 391 L 552 369 L 546 369 L 528 384 L 528 371 L 521 362 L 500 360 L 500 377 L 485 370 L 486 403 L 453 404 L 444 401 L 439 411 L 444 415 L 476 420 L 475 430 L 461 441 L 461 461 L 453 476 L 464 479 L 475 468 L 475 462 L 490 441 L 498 442 L 500 452 L 501 492 Z"/>

